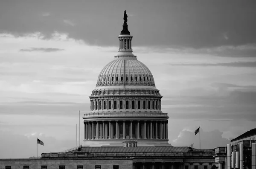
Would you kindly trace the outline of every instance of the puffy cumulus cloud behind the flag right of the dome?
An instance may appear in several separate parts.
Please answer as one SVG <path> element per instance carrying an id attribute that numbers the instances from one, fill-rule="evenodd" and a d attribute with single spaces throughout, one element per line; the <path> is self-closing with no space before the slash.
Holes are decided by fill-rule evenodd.
<path id="1" fill-rule="evenodd" d="M 194 131 L 198 127 L 193 127 Z M 190 146 L 194 144 L 194 148 L 199 149 L 199 133 L 195 135 L 194 131 L 183 129 L 177 138 L 172 140 L 173 146 Z M 217 146 L 227 146 L 230 143 L 229 140 L 222 137 L 223 132 L 219 130 L 213 130 L 205 132 L 201 127 L 201 149 L 214 149 Z"/>

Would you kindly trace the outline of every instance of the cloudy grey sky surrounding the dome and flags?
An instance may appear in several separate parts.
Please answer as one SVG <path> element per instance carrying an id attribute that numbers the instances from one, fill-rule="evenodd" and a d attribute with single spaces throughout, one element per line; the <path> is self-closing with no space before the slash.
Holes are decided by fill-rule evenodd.
<path id="1" fill-rule="evenodd" d="M 133 54 L 163 96 L 170 144 L 199 148 L 199 125 L 202 149 L 256 128 L 255 8 L 254 0 L 1 0 L 0 158 L 37 156 L 36 138 L 39 156 L 73 148 L 79 122 L 82 143 L 88 96 L 117 54 L 125 10 Z"/>

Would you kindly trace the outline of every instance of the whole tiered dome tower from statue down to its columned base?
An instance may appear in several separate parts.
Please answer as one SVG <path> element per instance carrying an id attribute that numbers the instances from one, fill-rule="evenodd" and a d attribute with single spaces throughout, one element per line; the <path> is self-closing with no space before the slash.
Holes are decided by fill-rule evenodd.
<path id="1" fill-rule="evenodd" d="M 83 145 L 122 146 L 122 141 L 137 140 L 137 146 L 171 146 L 162 96 L 150 70 L 132 54 L 125 15 L 118 54 L 102 69 L 89 97 Z"/>

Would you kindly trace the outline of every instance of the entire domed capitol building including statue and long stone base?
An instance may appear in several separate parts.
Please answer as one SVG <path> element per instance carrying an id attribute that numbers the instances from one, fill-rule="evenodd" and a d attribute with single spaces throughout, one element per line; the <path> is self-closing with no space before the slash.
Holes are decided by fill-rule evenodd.
<path id="1" fill-rule="evenodd" d="M 214 149 L 168 143 L 163 96 L 133 54 L 132 38 L 125 11 L 118 52 L 99 72 L 89 96 L 81 146 L 40 158 L 0 159 L 0 169 L 210 169 Z"/>

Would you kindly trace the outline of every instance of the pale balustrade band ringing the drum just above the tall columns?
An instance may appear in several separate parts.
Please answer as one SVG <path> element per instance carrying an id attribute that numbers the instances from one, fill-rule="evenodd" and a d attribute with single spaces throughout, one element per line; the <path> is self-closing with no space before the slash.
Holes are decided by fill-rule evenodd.
<path id="1" fill-rule="evenodd" d="M 167 113 L 157 113 L 157 112 L 97 112 L 97 113 L 86 113 L 84 117 L 108 117 L 108 116 L 160 116 L 160 117 L 168 117 Z"/>

